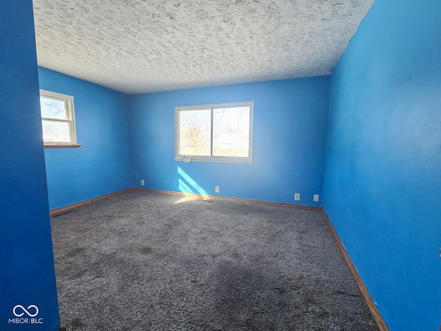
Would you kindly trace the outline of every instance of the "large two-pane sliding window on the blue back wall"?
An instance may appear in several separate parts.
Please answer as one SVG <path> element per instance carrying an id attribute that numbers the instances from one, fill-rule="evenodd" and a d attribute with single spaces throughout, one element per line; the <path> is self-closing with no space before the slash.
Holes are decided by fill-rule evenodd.
<path id="1" fill-rule="evenodd" d="M 253 102 L 175 108 L 179 161 L 252 161 Z"/>

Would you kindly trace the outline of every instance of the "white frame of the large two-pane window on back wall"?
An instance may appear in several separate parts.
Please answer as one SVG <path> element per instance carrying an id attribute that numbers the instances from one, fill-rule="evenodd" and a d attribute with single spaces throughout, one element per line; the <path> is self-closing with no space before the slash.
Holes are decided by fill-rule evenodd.
<path id="1" fill-rule="evenodd" d="M 208 110 L 211 109 L 211 126 L 210 126 L 210 140 L 213 147 L 213 110 L 215 108 L 240 108 L 249 107 L 249 141 L 248 141 L 248 157 L 216 157 L 213 155 L 213 148 L 210 156 L 203 155 L 186 155 L 181 154 L 181 128 L 180 128 L 180 113 L 188 110 Z M 196 106 L 176 106 L 174 108 L 174 159 L 176 161 L 199 161 L 199 162 L 229 162 L 229 163 L 252 163 L 253 151 L 253 116 L 254 116 L 254 101 L 233 102 L 233 103 L 212 103 L 207 105 Z"/>

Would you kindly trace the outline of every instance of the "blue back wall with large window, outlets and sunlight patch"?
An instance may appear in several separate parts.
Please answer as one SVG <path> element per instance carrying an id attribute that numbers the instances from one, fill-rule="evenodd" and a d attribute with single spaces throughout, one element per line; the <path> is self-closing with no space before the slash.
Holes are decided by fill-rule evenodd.
<path id="1" fill-rule="evenodd" d="M 254 101 L 252 163 L 174 161 L 175 106 L 236 101 Z M 321 205 L 328 106 L 329 76 L 135 95 L 132 183 L 279 203 L 299 192 L 300 204 Z"/>

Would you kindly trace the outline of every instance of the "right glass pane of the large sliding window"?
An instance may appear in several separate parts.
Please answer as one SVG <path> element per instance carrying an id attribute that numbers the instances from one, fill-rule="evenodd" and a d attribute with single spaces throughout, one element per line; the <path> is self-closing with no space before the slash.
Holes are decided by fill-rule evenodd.
<path id="1" fill-rule="evenodd" d="M 213 110 L 213 155 L 249 157 L 249 107 Z"/>

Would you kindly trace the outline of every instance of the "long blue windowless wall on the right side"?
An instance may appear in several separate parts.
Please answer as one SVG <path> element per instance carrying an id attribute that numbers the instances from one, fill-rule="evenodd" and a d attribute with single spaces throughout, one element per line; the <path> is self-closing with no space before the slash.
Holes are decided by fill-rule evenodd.
<path id="1" fill-rule="evenodd" d="M 440 17 L 376 0 L 331 77 L 324 208 L 393 331 L 440 328 Z"/>

